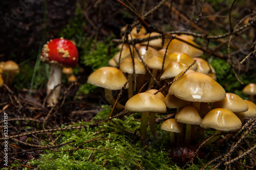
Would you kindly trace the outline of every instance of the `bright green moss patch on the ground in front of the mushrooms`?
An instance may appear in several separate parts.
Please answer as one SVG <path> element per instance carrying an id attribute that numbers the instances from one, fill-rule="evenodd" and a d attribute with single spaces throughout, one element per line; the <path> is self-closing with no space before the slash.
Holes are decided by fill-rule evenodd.
<path id="1" fill-rule="evenodd" d="M 102 106 L 102 108 L 103 110 L 99 112 L 100 115 L 96 117 L 103 118 L 103 115 L 110 114 L 109 106 Z M 75 123 L 75 125 L 87 126 L 92 123 L 81 122 Z M 61 152 L 45 151 L 46 154 L 42 154 L 38 160 L 31 160 L 30 163 L 38 164 L 40 169 L 139 169 L 139 166 L 143 169 L 182 169 L 173 163 L 164 152 L 166 148 L 169 148 L 168 133 L 160 131 L 160 138 L 155 139 L 148 128 L 150 138 L 147 142 L 149 145 L 144 149 L 138 136 L 139 126 L 140 122 L 134 118 L 134 115 L 131 115 L 123 119 L 114 118 L 94 128 L 56 132 L 56 137 L 61 134 L 56 144 L 74 139 L 76 140 L 75 144 L 63 146 L 59 149 Z M 157 128 L 159 126 L 160 124 L 157 124 Z M 83 142 L 100 135 L 103 135 L 102 138 L 110 139 L 89 142 L 83 147 L 95 149 L 114 147 L 114 149 L 63 151 L 78 147 Z M 92 161 L 93 155 L 94 160 Z M 204 162 L 199 161 L 197 165 L 191 165 L 187 169 L 200 169 L 202 164 Z"/>

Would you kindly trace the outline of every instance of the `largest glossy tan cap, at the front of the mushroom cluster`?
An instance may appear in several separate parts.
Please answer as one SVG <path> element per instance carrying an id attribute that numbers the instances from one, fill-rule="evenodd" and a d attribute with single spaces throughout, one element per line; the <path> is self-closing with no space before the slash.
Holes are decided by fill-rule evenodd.
<path id="1" fill-rule="evenodd" d="M 169 94 L 189 102 L 216 102 L 226 97 L 223 87 L 200 72 L 183 75 L 169 88 Z"/>

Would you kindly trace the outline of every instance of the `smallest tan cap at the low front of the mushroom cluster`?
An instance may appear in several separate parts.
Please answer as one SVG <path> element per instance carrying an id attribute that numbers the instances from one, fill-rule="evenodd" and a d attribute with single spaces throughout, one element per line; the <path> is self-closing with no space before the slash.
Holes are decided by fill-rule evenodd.
<path id="1" fill-rule="evenodd" d="M 174 118 L 165 120 L 160 128 L 164 131 L 175 133 L 181 133 L 183 130 L 182 124 L 177 122 Z"/>

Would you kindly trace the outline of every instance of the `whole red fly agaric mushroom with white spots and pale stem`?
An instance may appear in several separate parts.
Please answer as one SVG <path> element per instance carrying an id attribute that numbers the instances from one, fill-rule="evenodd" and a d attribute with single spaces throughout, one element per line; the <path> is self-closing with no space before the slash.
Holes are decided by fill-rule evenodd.
<path id="1" fill-rule="evenodd" d="M 61 84 L 62 66 L 75 67 L 78 61 L 78 51 L 71 41 L 61 37 L 48 41 L 42 48 L 40 58 L 51 68 L 47 83 L 47 103 L 53 106 L 60 95 L 58 85 Z"/>

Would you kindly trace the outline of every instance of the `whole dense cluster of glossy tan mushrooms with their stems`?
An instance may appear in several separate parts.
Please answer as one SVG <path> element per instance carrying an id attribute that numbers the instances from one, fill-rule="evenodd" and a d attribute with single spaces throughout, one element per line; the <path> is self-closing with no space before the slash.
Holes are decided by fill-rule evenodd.
<path id="1" fill-rule="evenodd" d="M 128 37 L 135 39 L 153 35 L 158 33 L 146 34 L 142 27 L 139 31 L 134 28 Z M 191 36 L 178 37 L 196 45 Z M 197 134 L 200 134 L 201 139 L 204 138 L 204 128 L 215 129 L 215 136 L 221 131 L 236 131 L 242 127 L 244 117 L 255 115 L 254 103 L 243 100 L 237 94 L 226 93 L 216 82 L 214 68 L 199 58 L 203 54 L 201 50 L 176 39 L 168 46 L 167 44 L 166 39 L 162 47 L 161 38 L 136 44 L 137 49 L 123 44 L 119 46 L 122 50 L 109 61 L 110 67 L 99 68 L 88 78 L 88 83 L 105 89 L 105 99 L 112 106 L 116 102 L 112 90 L 127 89 L 128 100 L 125 107 L 119 103 L 116 107 L 142 113 L 140 133 L 143 141 L 147 139 L 149 117 L 150 129 L 155 137 L 159 137 L 155 128 L 155 115 L 165 113 L 166 107 L 177 109 L 175 118 L 167 119 L 161 125 L 162 130 L 170 132 L 172 145 L 176 144 L 174 133 L 178 134 L 177 144 L 189 144 L 196 139 Z M 196 64 L 193 65 L 195 60 Z M 189 65 L 192 66 L 187 69 Z M 182 74 L 184 75 L 181 76 Z M 162 93 L 153 89 L 173 80 L 176 81 L 169 87 L 168 92 Z M 138 93 L 147 81 L 150 90 Z M 244 92 L 250 95 L 247 91 L 256 91 L 246 89 L 247 87 Z M 184 124 L 186 130 L 183 133 Z M 217 139 L 218 136 L 207 143 Z"/>

